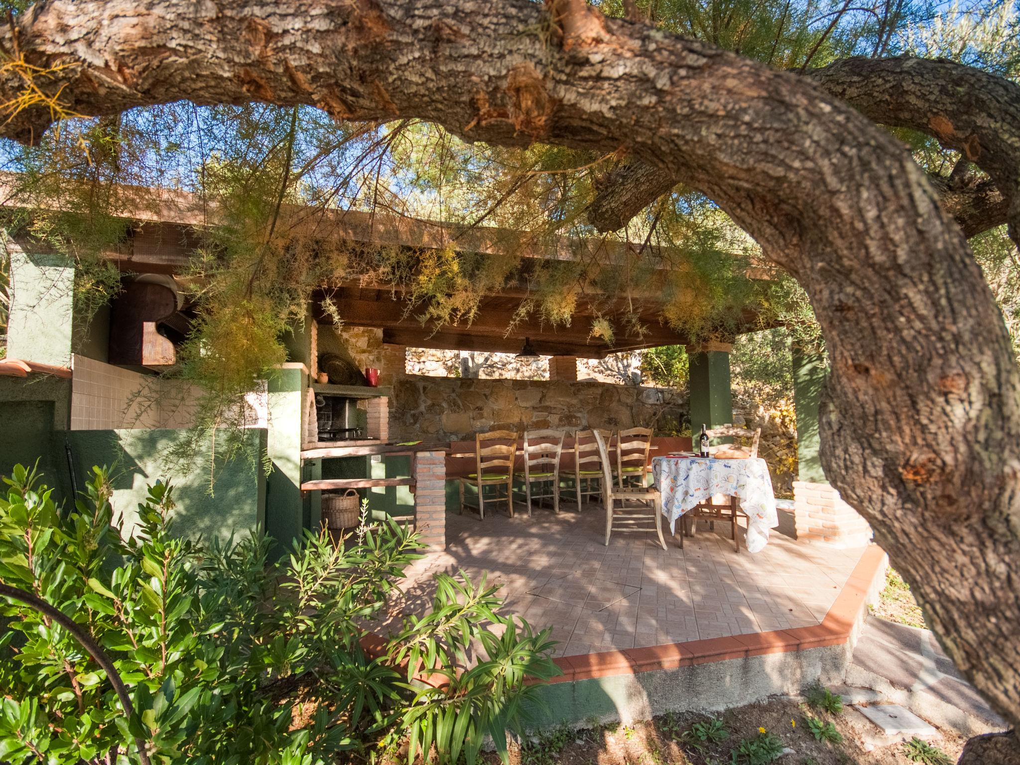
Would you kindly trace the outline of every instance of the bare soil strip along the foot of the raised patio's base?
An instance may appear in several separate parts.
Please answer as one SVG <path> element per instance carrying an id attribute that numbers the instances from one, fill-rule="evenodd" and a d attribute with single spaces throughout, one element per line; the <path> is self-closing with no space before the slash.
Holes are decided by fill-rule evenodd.
<path id="1" fill-rule="evenodd" d="M 811 714 L 831 721 L 843 735 L 839 744 L 818 742 L 811 734 L 806 716 Z M 511 765 L 761 765 L 747 759 L 731 760 L 731 751 L 744 738 L 759 735 L 759 728 L 776 735 L 783 748 L 793 750 L 780 756 L 779 765 L 912 765 L 902 742 L 872 746 L 862 738 L 861 728 L 846 712 L 828 714 L 809 708 L 798 699 L 779 697 L 759 704 L 718 713 L 728 736 L 718 744 L 708 744 L 702 751 L 684 742 L 683 733 L 697 722 L 711 719 L 701 714 L 657 717 L 633 726 L 609 725 L 588 730 L 561 729 L 518 747 L 511 745 Z M 796 721 L 797 725 L 790 722 Z M 868 723 L 870 725 L 870 723 Z M 877 728 L 874 728 L 877 733 Z M 965 738 L 952 731 L 932 740 L 955 763 Z M 491 756 L 491 763 L 499 758 Z M 935 765 L 929 761 L 930 765 Z"/>

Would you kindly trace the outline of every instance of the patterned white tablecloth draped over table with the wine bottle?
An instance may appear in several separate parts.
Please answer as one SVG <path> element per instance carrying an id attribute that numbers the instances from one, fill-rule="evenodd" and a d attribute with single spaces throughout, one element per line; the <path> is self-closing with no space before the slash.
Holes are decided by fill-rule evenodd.
<path id="1" fill-rule="evenodd" d="M 675 532 L 676 519 L 698 503 L 717 494 L 740 498 L 748 514 L 748 551 L 759 552 L 768 543 L 768 530 L 779 525 L 768 465 L 761 457 L 717 460 L 701 457 L 653 457 L 655 488 L 662 493 L 662 514 Z"/>

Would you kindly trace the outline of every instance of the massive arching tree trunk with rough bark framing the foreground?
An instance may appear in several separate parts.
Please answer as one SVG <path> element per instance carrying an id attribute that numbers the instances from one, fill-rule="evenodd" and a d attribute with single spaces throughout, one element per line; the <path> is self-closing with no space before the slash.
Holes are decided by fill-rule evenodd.
<path id="1" fill-rule="evenodd" d="M 50 0 L 15 23 L 29 61 L 73 64 L 44 85 L 80 113 L 190 98 L 420 117 L 494 144 L 622 148 L 707 194 L 811 297 L 832 364 L 826 473 L 1020 721 L 1020 375 L 959 227 L 863 114 L 583 0 Z"/>

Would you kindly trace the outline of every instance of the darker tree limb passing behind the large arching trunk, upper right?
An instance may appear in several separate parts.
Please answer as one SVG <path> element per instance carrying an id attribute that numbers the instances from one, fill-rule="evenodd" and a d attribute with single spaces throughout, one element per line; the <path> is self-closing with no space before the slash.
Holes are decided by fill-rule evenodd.
<path id="1" fill-rule="evenodd" d="M 965 236 L 1009 223 L 1020 246 L 1020 86 L 953 61 L 907 56 L 847 58 L 807 76 L 875 122 L 931 136 L 984 170 L 990 182 L 966 174 L 929 181 Z M 589 221 L 618 231 L 676 181 L 656 167 L 624 164 L 603 178 Z"/>

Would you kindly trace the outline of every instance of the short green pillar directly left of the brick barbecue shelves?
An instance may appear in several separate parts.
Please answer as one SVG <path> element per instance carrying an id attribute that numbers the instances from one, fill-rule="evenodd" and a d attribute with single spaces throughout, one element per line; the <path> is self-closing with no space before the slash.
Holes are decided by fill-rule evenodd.
<path id="1" fill-rule="evenodd" d="M 277 553 L 293 540 L 300 540 L 302 528 L 312 521 L 310 499 L 301 495 L 302 410 L 307 377 L 304 364 L 288 362 L 274 369 L 268 380 L 266 452 L 272 470 L 266 478 L 265 530 L 278 543 Z"/>

